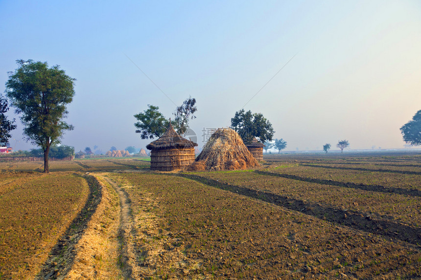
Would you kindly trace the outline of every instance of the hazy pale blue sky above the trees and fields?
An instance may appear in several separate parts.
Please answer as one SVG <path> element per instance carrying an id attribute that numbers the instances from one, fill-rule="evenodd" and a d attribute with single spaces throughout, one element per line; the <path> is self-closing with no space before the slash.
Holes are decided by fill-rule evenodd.
<path id="1" fill-rule="evenodd" d="M 76 79 L 62 143 L 145 148 L 134 115 L 189 96 L 199 147 L 236 111 L 262 113 L 285 151 L 401 149 L 421 109 L 421 1 L 4 1 L 0 91 L 16 60 Z M 35 148 L 18 129 L 14 150 Z M 204 132 L 205 131 L 205 132 Z"/>

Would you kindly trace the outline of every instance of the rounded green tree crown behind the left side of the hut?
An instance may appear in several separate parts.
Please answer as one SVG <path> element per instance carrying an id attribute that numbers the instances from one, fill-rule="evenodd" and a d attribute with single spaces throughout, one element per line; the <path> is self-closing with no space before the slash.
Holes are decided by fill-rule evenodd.
<path id="1" fill-rule="evenodd" d="M 142 139 L 159 138 L 167 129 L 169 121 L 158 111 L 158 106 L 148 104 L 148 107 L 143 113 L 135 115 L 135 118 L 138 120 L 135 123 L 136 133 L 140 133 Z"/>

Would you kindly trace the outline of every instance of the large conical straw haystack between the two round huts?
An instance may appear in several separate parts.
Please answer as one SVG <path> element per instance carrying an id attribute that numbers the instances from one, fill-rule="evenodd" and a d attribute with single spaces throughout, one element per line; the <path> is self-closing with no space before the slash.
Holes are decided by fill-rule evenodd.
<path id="1" fill-rule="evenodd" d="M 237 132 L 217 129 L 189 170 L 236 170 L 258 165 Z"/>

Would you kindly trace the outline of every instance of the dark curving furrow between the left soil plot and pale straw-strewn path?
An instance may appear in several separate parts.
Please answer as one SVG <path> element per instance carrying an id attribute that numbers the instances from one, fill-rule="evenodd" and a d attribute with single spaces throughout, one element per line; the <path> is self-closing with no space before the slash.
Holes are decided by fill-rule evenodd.
<path id="1" fill-rule="evenodd" d="M 82 237 L 89 220 L 94 214 L 97 205 L 101 202 L 101 185 L 94 176 L 83 176 L 88 182 L 90 194 L 80 213 L 72 221 L 66 233 L 58 240 L 51 249 L 41 271 L 35 277 L 36 280 L 64 279 L 76 257 L 75 245 Z"/>

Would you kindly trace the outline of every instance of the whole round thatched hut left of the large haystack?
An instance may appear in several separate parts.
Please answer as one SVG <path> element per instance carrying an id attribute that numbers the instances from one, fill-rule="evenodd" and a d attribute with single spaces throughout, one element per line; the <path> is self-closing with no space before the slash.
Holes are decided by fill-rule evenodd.
<path id="1" fill-rule="evenodd" d="M 194 147 L 197 143 L 189 141 L 169 124 L 164 134 L 146 146 L 151 150 L 151 170 L 173 171 L 185 169 L 194 162 Z"/>

